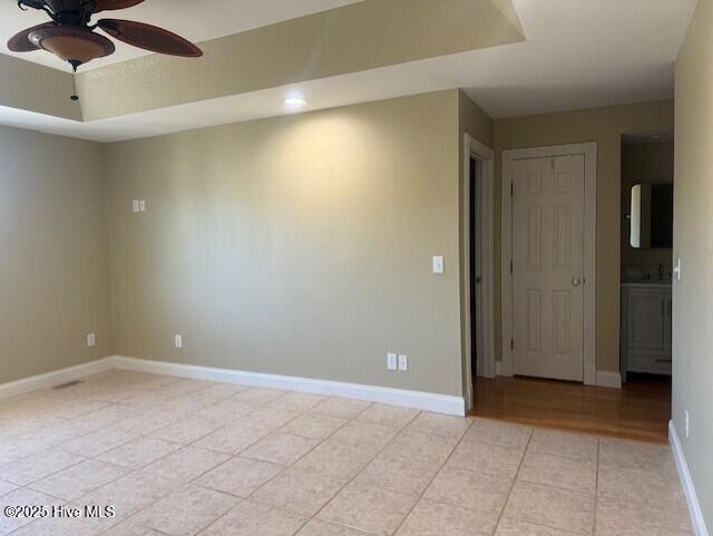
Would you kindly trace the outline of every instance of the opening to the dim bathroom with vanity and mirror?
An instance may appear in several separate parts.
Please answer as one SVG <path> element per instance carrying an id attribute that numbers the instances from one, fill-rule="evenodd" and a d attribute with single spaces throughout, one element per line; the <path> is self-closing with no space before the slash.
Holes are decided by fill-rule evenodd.
<path id="1" fill-rule="evenodd" d="M 622 381 L 671 391 L 674 137 L 622 136 Z M 670 416 L 668 416 L 670 417 Z"/>

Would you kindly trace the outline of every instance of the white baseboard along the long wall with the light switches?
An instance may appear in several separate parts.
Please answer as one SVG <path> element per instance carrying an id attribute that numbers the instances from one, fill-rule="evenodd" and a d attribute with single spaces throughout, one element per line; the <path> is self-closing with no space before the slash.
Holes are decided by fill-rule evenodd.
<path id="1" fill-rule="evenodd" d="M 136 372 L 149 372 L 153 374 L 176 376 L 195 380 L 209 380 L 223 383 L 238 383 L 252 387 L 268 387 L 272 389 L 285 389 L 290 391 L 311 392 L 335 397 L 369 400 L 393 406 L 403 406 L 436 413 L 456 416 L 466 415 L 466 405 L 462 397 L 436 394 L 422 391 L 407 391 L 387 387 L 363 386 L 345 383 L 341 381 L 315 380 L 312 378 L 299 378 L 293 376 L 266 374 L 262 372 L 246 372 L 233 369 L 217 369 L 213 367 L 199 367 L 195 364 L 168 363 L 147 359 L 114 358 L 114 367 Z"/>

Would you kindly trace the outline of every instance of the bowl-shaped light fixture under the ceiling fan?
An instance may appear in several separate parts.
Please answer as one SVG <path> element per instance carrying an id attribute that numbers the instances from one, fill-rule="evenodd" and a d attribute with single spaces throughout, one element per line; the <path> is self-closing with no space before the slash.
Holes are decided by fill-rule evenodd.
<path id="1" fill-rule="evenodd" d="M 38 28 L 28 36 L 32 45 L 72 65 L 84 65 L 114 52 L 114 43 L 89 29 L 50 26 Z"/>

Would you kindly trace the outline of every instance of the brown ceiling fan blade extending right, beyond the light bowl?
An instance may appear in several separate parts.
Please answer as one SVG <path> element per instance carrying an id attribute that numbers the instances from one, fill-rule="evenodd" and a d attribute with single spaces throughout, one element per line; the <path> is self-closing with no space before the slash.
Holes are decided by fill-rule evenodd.
<path id="1" fill-rule="evenodd" d="M 153 52 L 189 58 L 203 56 L 203 51 L 191 41 L 156 26 L 119 19 L 101 19 L 97 26 L 119 41 Z"/>

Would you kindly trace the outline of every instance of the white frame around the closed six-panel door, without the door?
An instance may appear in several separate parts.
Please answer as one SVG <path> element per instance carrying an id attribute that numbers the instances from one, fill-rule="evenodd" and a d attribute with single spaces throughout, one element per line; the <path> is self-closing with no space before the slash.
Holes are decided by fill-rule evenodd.
<path id="1" fill-rule="evenodd" d="M 527 158 L 584 155 L 584 383 L 597 384 L 596 367 L 596 214 L 597 143 L 554 145 L 502 152 L 502 376 L 512 376 L 512 173 L 514 163 Z"/>

